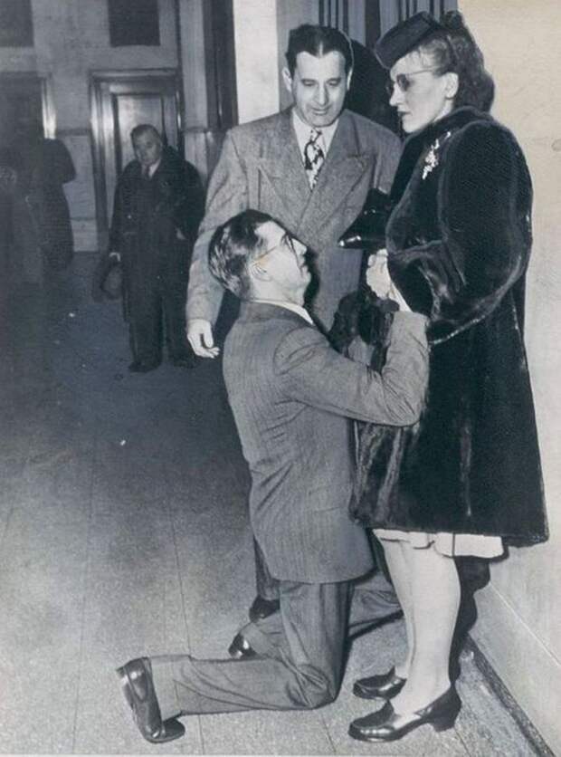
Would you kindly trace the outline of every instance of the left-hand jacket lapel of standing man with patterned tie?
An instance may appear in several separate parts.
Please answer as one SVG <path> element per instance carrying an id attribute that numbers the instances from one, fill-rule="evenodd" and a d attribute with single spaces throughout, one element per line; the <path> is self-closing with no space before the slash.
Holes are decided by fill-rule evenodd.
<path id="1" fill-rule="evenodd" d="M 266 155 L 259 158 L 258 170 L 261 181 L 270 185 L 284 208 L 285 217 L 290 218 L 291 227 L 296 228 L 308 206 L 311 191 L 290 122 L 290 109 L 281 112 Z"/>

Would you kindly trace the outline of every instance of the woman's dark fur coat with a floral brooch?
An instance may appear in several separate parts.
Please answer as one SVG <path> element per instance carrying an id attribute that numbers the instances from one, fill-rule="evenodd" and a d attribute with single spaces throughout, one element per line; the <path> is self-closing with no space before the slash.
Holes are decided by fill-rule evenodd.
<path id="1" fill-rule="evenodd" d="M 457 109 L 406 141 L 392 199 L 388 265 L 430 319 L 429 389 L 414 431 L 370 430 L 355 514 L 388 528 L 544 541 L 523 343 L 532 188 L 522 151 L 488 114 Z"/>

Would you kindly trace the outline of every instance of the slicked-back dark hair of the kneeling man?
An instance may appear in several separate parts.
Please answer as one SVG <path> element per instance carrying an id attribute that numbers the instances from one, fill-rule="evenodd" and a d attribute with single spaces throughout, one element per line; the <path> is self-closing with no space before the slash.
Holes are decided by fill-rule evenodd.
<path id="1" fill-rule="evenodd" d="M 274 220 L 259 210 L 243 210 L 214 231 L 208 248 L 208 264 L 214 278 L 241 300 L 251 284 L 248 264 L 259 256 L 263 240 L 257 231 Z"/>

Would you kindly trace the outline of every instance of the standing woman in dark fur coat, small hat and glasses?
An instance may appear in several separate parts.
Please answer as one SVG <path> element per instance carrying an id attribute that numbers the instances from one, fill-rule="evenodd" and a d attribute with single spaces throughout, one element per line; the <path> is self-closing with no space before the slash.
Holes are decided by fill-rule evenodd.
<path id="1" fill-rule="evenodd" d="M 357 695 L 387 701 L 350 733 L 390 741 L 423 723 L 449 728 L 460 711 L 449 676 L 460 602 L 454 557 L 492 558 L 504 541 L 544 541 L 547 524 L 522 340 L 526 161 L 487 112 L 493 82 L 461 14 L 441 23 L 416 14 L 382 37 L 376 55 L 408 135 L 387 267 L 408 307 L 427 316 L 432 345 L 419 426 L 372 429 L 369 446 L 363 434 L 355 493 L 355 514 L 384 546 L 408 655 L 357 681 Z M 378 327 L 388 317 L 378 314 Z"/>

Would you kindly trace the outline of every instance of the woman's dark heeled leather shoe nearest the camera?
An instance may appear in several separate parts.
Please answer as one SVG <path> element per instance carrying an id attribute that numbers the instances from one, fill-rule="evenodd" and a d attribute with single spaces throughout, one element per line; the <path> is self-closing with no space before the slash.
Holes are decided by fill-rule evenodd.
<path id="1" fill-rule="evenodd" d="M 452 728 L 460 710 L 460 697 L 451 686 L 438 699 L 414 713 L 396 713 L 392 704 L 386 702 L 376 713 L 354 720 L 348 734 L 361 742 L 394 742 L 425 723 L 430 723 L 435 731 L 446 731 Z"/>

